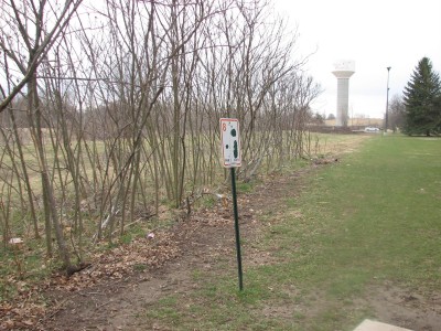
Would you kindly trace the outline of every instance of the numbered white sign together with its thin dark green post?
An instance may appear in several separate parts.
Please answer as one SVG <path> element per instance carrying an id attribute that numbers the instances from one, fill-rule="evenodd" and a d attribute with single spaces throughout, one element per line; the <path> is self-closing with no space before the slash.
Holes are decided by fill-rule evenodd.
<path id="1" fill-rule="evenodd" d="M 232 175 L 232 195 L 233 210 L 235 217 L 236 233 L 236 254 L 237 269 L 239 275 L 239 290 L 244 289 L 243 271 L 241 271 L 241 254 L 240 254 L 240 233 L 239 233 L 239 213 L 237 211 L 237 194 L 236 194 L 236 167 L 240 167 L 240 139 L 239 139 L 239 121 L 236 118 L 220 118 L 220 142 L 222 157 L 225 168 L 230 169 Z"/>

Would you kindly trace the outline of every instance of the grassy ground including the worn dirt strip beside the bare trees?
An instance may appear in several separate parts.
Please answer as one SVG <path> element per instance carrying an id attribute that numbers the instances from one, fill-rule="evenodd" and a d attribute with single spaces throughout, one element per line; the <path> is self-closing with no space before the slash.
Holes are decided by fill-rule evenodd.
<path id="1" fill-rule="evenodd" d="M 240 194 L 243 292 L 229 206 L 216 205 L 181 224 L 181 257 L 78 292 L 49 329 L 75 318 L 125 330 L 353 330 L 370 318 L 439 330 L 441 140 L 349 146 L 338 162 Z"/>

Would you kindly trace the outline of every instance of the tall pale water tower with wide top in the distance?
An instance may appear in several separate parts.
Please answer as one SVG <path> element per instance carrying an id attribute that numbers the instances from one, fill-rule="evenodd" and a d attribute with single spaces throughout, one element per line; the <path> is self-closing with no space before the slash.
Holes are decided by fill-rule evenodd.
<path id="1" fill-rule="evenodd" d="M 334 63 L 332 72 L 337 77 L 337 116 L 335 125 L 347 127 L 349 107 L 349 78 L 355 73 L 355 62 L 341 60 Z"/>

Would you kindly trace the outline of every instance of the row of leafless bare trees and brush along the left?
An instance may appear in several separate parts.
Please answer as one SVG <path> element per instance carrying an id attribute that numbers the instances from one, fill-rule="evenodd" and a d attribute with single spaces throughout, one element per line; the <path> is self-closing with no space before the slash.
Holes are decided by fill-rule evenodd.
<path id="1" fill-rule="evenodd" d="M 0 226 L 75 273 L 90 243 L 222 183 L 220 117 L 247 180 L 309 152 L 320 86 L 256 0 L 4 1 Z M 54 247 L 54 243 L 55 247 Z"/>

